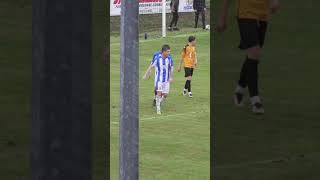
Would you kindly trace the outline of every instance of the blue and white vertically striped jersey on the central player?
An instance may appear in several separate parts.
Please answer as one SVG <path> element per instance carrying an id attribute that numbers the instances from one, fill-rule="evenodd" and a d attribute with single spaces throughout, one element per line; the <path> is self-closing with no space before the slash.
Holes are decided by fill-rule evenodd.
<path id="1" fill-rule="evenodd" d="M 163 59 L 160 52 L 155 53 L 151 65 L 155 68 L 155 83 L 168 82 L 173 68 L 173 59 L 169 55 Z"/>

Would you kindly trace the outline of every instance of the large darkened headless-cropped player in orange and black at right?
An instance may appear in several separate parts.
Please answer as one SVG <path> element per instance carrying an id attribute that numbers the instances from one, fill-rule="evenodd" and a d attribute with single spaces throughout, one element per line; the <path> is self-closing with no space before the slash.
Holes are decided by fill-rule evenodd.
<path id="1" fill-rule="evenodd" d="M 226 29 L 229 1 L 223 1 L 217 31 Z M 237 21 L 240 31 L 239 48 L 245 50 L 246 59 L 234 92 L 234 102 L 242 106 L 245 88 L 248 87 L 252 112 L 263 114 L 264 108 L 258 91 L 258 64 L 262 54 L 268 19 L 279 8 L 278 0 L 237 0 Z"/>

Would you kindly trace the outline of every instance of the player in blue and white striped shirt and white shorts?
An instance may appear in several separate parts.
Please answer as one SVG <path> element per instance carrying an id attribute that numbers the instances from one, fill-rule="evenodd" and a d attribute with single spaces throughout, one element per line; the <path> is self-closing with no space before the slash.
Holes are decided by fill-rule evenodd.
<path id="1" fill-rule="evenodd" d="M 155 68 L 155 89 L 156 95 L 156 109 L 157 114 L 161 114 L 161 102 L 163 102 L 169 94 L 170 82 L 172 82 L 173 60 L 170 56 L 170 46 L 163 45 L 161 48 L 161 55 L 155 56 L 152 64 L 148 67 L 143 79 L 148 79 L 151 75 L 151 70 Z"/>

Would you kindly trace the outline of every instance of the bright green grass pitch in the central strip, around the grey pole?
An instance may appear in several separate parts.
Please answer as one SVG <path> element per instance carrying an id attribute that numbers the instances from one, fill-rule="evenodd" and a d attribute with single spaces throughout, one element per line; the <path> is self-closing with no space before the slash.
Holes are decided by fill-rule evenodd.
<path id="1" fill-rule="evenodd" d="M 165 39 L 140 40 L 140 179 L 209 179 L 210 167 L 210 53 L 209 32 L 169 33 Z M 199 65 L 192 81 L 193 98 L 182 96 L 184 72 L 177 72 L 180 52 L 189 35 L 197 37 Z M 174 82 L 162 115 L 152 107 L 153 77 L 142 80 L 153 53 L 171 46 Z M 119 39 L 111 39 L 111 179 L 118 178 Z"/>

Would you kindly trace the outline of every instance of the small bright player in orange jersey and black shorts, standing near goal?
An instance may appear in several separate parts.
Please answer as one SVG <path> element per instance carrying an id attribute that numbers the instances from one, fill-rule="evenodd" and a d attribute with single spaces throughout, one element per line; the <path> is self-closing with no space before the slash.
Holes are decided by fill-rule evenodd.
<path id="1" fill-rule="evenodd" d="M 198 63 L 197 54 L 196 54 L 196 38 L 194 36 L 190 36 L 188 38 L 188 44 L 182 49 L 181 52 L 181 61 L 178 67 L 178 72 L 181 71 L 182 63 L 184 64 L 184 77 L 186 78 L 186 84 L 184 85 L 184 89 L 182 94 L 185 96 L 187 95 L 192 98 L 191 92 L 191 80 L 193 75 L 193 69 Z"/>

